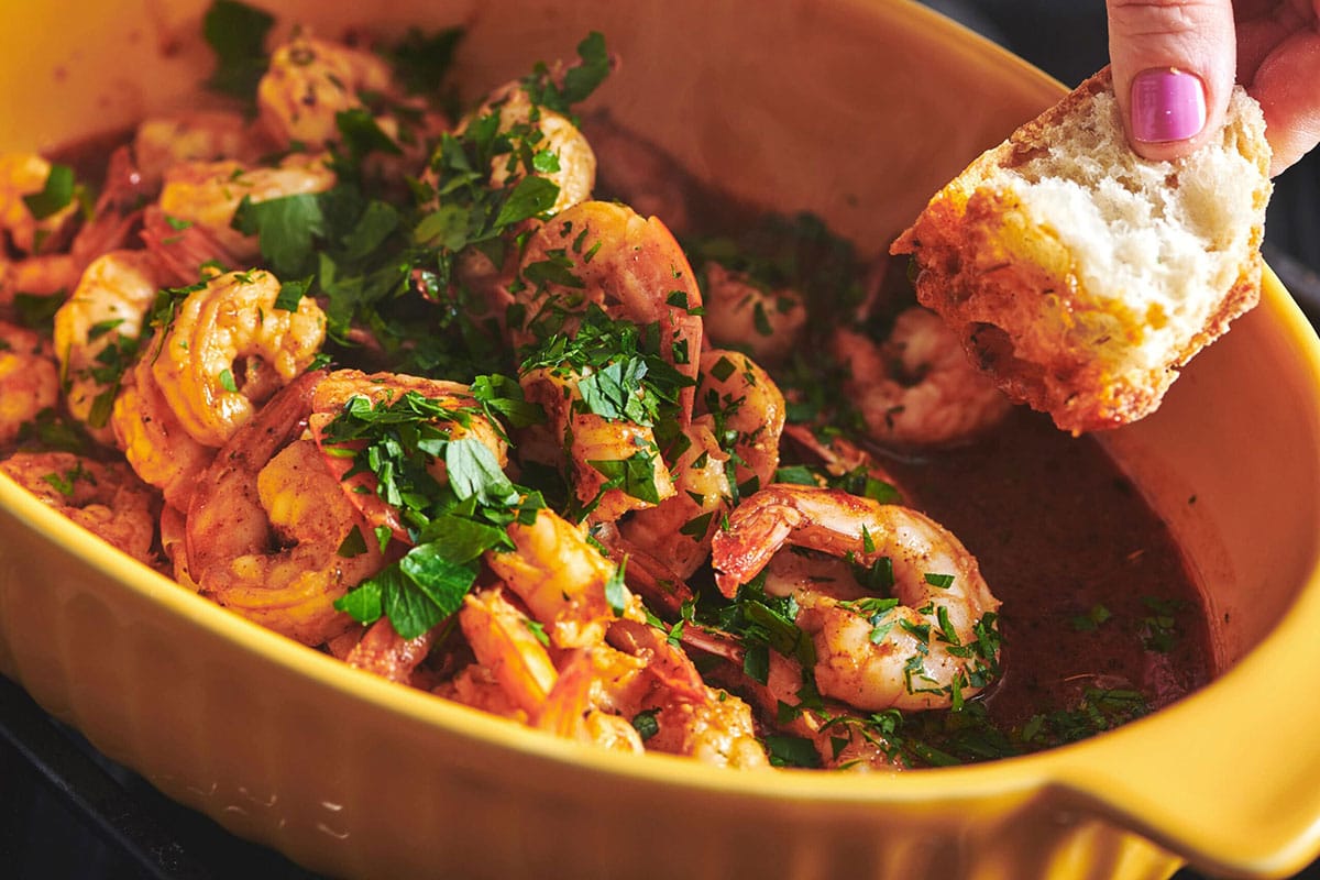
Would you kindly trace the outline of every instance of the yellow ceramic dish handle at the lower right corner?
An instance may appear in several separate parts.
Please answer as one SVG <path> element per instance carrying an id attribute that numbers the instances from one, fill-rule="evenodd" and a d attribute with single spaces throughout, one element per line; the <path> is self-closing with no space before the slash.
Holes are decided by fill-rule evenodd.
<path id="1" fill-rule="evenodd" d="M 1320 604 L 1320 590 L 1309 594 L 1298 606 Z M 1213 685 L 1092 741 L 1101 748 L 1059 749 L 1052 778 L 1081 809 L 1197 869 L 1262 877 L 1303 869 L 1320 856 L 1320 734 L 1295 707 L 1315 699 L 1320 639 L 1283 631 L 1307 619 L 1320 619 L 1320 608 L 1292 608 Z"/>

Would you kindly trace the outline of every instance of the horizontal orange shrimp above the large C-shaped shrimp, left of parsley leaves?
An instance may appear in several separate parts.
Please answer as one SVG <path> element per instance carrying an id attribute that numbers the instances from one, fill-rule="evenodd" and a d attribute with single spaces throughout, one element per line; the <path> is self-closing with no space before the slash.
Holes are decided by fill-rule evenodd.
<path id="1" fill-rule="evenodd" d="M 267 202 L 284 195 L 323 193 L 335 182 L 335 173 L 323 156 L 305 153 L 294 153 L 277 166 L 248 166 L 236 160 L 178 162 L 165 173 L 157 199 L 170 224 L 161 231 L 160 239 L 168 244 L 185 234 L 189 224 L 195 224 L 228 256 L 231 261 L 224 265 L 238 268 L 260 256 L 256 236 L 231 227 L 244 198 Z"/>

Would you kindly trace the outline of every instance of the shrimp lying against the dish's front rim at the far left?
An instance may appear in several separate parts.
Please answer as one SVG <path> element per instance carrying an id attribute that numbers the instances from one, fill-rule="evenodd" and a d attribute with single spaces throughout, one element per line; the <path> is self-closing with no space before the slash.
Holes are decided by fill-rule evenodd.
<path id="1" fill-rule="evenodd" d="M 154 563 L 160 500 L 127 466 L 71 453 L 17 453 L 0 471 L 88 532 Z"/>

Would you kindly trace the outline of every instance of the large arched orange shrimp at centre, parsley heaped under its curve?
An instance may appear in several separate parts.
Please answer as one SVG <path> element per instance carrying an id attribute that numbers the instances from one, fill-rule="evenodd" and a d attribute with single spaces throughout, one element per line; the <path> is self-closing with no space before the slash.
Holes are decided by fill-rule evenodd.
<path id="1" fill-rule="evenodd" d="M 528 282 L 516 294 L 523 321 L 510 327 L 515 346 L 556 332 L 576 332 L 587 303 L 640 327 L 659 329 L 659 354 L 697 380 L 701 356 L 701 292 L 673 235 L 657 218 L 611 202 L 582 202 L 540 227 L 523 255 L 524 280 L 545 267 L 554 280 Z M 564 281 L 568 281 L 566 284 Z M 678 421 L 692 417 L 693 389 L 680 392 Z"/>

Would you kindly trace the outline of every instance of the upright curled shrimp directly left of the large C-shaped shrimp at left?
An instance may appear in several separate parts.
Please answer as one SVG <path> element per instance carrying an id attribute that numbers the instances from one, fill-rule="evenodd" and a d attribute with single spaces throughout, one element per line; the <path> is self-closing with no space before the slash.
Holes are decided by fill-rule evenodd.
<path id="1" fill-rule="evenodd" d="M 119 376 L 107 377 L 106 371 L 136 350 L 143 319 L 156 301 L 157 278 L 148 252 L 112 251 L 92 260 L 55 311 L 53 340 L 65 377 L 65 405 L 103 443 L 114 442 L 108 418 L 119 391 Z"/>

